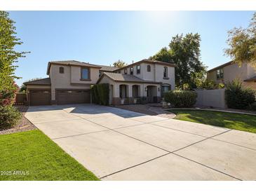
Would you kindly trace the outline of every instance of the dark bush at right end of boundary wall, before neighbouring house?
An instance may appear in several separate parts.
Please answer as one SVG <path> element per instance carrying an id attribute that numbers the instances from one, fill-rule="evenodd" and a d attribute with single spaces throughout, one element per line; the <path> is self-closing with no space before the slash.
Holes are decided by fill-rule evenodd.
<path id="1" fill-rule="evenodd" d="M 243 88 L 238 80 L 227 83 L 225 96 L 227 107 L 233 109 L 246 109 L 255 102 L 255 91 Z"/>

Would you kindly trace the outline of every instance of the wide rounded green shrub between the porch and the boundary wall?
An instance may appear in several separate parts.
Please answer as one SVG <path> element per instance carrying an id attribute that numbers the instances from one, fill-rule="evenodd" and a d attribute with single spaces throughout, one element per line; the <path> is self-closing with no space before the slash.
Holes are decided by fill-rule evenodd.
<path id="1" fill-rule="evenodd" d="M 193 107 L 197 93 L 192 90 L 171 90 L 164 94 L 164 100 L 173 107 Z"/>

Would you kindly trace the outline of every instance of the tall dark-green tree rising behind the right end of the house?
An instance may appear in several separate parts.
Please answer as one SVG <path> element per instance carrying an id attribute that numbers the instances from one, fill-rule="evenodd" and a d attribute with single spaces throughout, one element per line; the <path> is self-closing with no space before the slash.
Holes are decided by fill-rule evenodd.
<path id="1" fill-rule="evenodd" d="M 169 43 L 168 48 L 162 48 L 159 53 L 149 57 L 152 60 L 172 62 L 175 68 L 175 84 L 184 90 L 196 88 L 196 77 L 206 74 L 206 67 L 201 62 L 201 37 L 198 33 L 176 35 Z"/>

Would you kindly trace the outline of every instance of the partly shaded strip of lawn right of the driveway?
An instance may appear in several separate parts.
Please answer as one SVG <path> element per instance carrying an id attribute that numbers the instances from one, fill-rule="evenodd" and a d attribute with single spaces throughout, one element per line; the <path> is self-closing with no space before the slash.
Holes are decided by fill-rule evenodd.
<path id="1" fill-rule="evenodd" d="M 169 111 L 177 115 L 175 119 L 182 121 L 191 121 L 256 133 L 256 116 L 253 115 L 206 110 L 172 109 Z"/>

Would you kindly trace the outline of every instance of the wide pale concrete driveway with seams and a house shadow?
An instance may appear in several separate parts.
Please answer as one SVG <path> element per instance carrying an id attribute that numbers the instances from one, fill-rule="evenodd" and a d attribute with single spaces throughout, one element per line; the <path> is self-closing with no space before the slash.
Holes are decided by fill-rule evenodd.
<path id="1" fill-rule="evenodd" d="M 256 134 L 90 104 L 26 117 L 102 180 L 256 179 Z"/>

